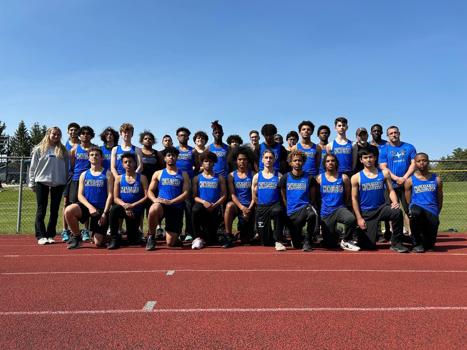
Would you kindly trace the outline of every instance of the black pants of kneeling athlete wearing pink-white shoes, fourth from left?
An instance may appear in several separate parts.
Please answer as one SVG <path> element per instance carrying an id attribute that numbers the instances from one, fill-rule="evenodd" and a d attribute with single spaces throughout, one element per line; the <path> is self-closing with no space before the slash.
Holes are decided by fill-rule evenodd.
<path id="1" fill-rule="evenodd" d="M 191 210 L 191 224 L 193 225 L 193 238 L 203 238 L 206 243 L 219 242 L 217 229 L 222 221 L 219 210 L 208 212 L 201 203 L 195 203 Z M 204 229 L 204 230 L 203 230 Z"/>

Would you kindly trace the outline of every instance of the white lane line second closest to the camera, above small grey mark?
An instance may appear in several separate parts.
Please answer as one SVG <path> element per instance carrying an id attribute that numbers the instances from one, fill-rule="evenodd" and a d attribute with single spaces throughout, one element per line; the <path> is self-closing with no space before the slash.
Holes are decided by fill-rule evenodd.
<path id="1" fill-rule="evenodd" d="M 410 273 L 467 273 L 463 270 L 362 270 L 362 269 L 181 269 L 181 270 L 132 270 L 132 271 L 44 271 L 44 272 L 4 272 L 0 275 L 42 275 L 42 274 L 86 274 L 86 273 L 158 273 L 173 275 L 175 272 L 410 272 Z"/>

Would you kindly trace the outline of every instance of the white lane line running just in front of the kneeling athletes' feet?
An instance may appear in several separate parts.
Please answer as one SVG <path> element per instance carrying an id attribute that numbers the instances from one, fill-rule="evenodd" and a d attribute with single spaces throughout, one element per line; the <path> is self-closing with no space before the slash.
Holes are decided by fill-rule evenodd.
<path id="1" fill-rule="evenodd" d="M 388 249 L 389 250 L 389 249 Z M 309 255 L 313 256 L 316 254 L 340 254 L 342 256 L 352 256 L 352 255 L 392 255 L 392 256 L 433 256 L 433 255 L 467 255 L 467 253 L 436 253 L 436 252 L 426 252 L 424 254 L 418 254 L 418 253 L 410 253 L 410 254 L 401 254 L 401 253 L 396 253 L 396 252 L 381 252 L 381 253 L 375 253 L 375 252 L 347 252 L 347 251 L 342 251 L 342 252 L 326 252 L 326 251 L 313 251 L 313 252 L 296 252 L 293 250 L 290 250 L 290 253 L 284 253 L 284 252 L 193 252 L 193 251 L 184 251 L 184 252 L 154 252 L 154 253 L 110 253 L 110 254 L 98 254 L 98 253 L 93 253 L 93 254 L 31 254 L 31 255 L 1 255 L 0 257 L 50 257 L 50 256 L 63 256 L 63 257 L 73 257 L 76 258 L 77 256 L 118 256 L 118 255 L 178 255 L 178 254 L 278 254 L 278 255 L 286 255 L 286 256 L 291 256 L 292 254 L 300 254 L 300 255 Z"/>

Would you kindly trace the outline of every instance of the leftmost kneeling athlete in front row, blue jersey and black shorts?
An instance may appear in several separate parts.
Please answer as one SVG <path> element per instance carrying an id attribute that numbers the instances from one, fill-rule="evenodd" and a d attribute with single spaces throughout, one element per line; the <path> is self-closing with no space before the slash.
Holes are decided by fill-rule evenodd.
<path id="1" fill-rule="evenodd" d="M 101 165 L 102 148 L 93 146 L 88 149 L 87 154 L 91 168 L 79 176 L 78 202 L 65 209 L 66 222 L 72 233 L 68 249 L 83 245 L 78 221 L 84 224 L 90 219 L 89 231 L 94 235 L 96 246 L 103 247 L 110 239 L 106 232 L 113 198 L 113 175 Z"/>

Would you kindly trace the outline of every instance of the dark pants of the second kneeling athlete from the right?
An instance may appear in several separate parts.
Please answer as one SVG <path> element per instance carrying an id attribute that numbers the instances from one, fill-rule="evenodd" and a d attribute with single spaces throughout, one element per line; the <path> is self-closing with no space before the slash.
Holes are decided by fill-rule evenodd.
<path id="1" fill-rule="evenodd" d="M 375 248 L 376 234 L 378 231 L 378 222 L 392 222 L 392 237 L 393 240 L 402 240 L 402 230 L 404 227 L 403 212 L 400 209 L 391 209 L 388 203 L 382 204 L 378 209 L 371 211 L 361 211 L 361 217 L 367 223 L 367 228 L 362 230 L 357 226 L 358 245 L 361 248 Z"/>

